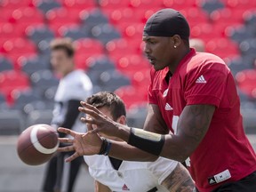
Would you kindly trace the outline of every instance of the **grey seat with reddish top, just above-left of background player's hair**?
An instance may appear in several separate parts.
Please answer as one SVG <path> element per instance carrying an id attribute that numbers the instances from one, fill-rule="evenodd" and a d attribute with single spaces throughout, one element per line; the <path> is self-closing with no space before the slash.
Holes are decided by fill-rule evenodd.
<path id="1" fill-rule="evenodd" d="M 53 39 L 54 33 L 48 28 L 46 25 L 36 26 L 36 27 L 28 27 L 26 31 L 26 35 L 30 40 L 32 40 L 35 44 L 38 44 L 40 41 L 44 39 Z"/>

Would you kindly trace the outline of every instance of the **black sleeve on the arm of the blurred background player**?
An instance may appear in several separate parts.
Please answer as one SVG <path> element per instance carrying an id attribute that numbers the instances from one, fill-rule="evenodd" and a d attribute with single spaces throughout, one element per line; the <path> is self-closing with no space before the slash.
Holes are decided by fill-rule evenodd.
<path id="1" fill-rule="evenodd" d="M 80 100 L 68 100 L 68 108 L 67 108 L 67 114 L 65 115 L 65 119 L 63 121 L 63 124 L 60 124 L 60 127 L 65 127 L 68 129 L 71 129 L 72 126 L 76 122 L 76 118 L 79 115 L 80 111 L 78 110 L 78 107 L 80 107 Z M 60 138 L 65 137 L 65 133 L 59 132 Z"/>

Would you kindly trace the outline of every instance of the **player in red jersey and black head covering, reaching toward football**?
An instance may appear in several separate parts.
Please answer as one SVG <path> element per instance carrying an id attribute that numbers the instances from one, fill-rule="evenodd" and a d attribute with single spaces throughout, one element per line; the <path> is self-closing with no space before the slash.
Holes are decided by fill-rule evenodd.
<path id="1" fill-rule="evenodd" d="M 96 153 L 135 161 L 164 156 L 185 162 L 198 191 L 256 191 L 256 156 L 244 133 L 234 78 L 223 60 L 189 48 L 188 39 L 188 22 L 180 12 L 164 9 L 148 19 L 143 41 L 153 68 L 144 131 L 116 124 L 82 102 L 79 110 L 91 116 L 82 121 L 90 129 L 97 126 L 85 134 L 60 129 L 75 137 L 61 139 L 73 145 L 60 150 L 76 150 L 67 161 Z"/>

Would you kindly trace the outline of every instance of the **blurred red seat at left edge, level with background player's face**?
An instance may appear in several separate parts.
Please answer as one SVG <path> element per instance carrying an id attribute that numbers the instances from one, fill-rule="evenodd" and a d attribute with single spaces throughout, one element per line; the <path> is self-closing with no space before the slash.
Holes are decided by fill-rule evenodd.
<path id="1" fill-rule="evenodd" d="M 36 46 L 29 40 L 13 38 L 4 42 L 2 52 L 13 61 L 15 69 L 19 69 L 18 60 L 22 57 L 35 56 Z"/>

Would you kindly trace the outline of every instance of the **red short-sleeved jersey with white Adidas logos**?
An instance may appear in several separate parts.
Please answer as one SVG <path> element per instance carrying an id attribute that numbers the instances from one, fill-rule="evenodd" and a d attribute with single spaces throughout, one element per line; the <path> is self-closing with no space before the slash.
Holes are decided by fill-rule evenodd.
<path id="1" fill-rule="evenodd" d="M 236 84 L 224 61 L 191 49 L 169 84 L 165 80 L 168 71 L 169 68 L 159 71 L 152 68 L 148 101 L 158 106 L 174 134 L 187 105 L 216 107 L 208 132 L 186 161 L 196 188 L 212 191 L 256 171 L 255 152 L 244 134 Z"/>

